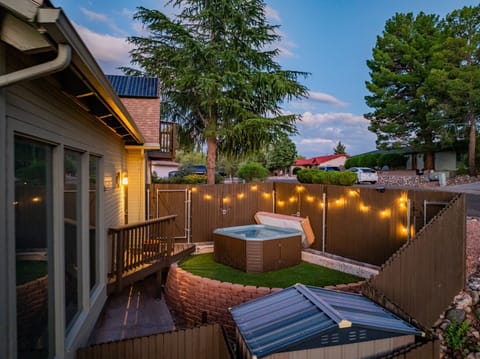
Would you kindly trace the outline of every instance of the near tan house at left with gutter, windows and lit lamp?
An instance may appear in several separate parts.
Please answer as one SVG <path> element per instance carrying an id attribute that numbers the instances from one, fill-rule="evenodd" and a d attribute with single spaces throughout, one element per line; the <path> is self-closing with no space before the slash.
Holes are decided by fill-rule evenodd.
<path id="1" fill-rule="evenodd" d="M 145 218 L 158 109 L 137 124 L 50 1 L 0 12 L 0 358 L 74 358 L 107 299 L 108 228 Z"/>

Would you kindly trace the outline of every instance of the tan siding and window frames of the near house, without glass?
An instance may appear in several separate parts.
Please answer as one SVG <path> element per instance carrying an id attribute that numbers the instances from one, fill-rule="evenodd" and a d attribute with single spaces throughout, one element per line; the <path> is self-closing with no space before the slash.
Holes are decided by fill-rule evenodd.
<path id="1" fill-rule="evenodd" d="M 7 69 L 10 73 L 18 68 L 30 66 L 22 64 L 22 57 L 16 51 L 2 54 L 3 46 L 0 44 L 1 60 L 7 59 Z M 2 63 L 0 62 L 0 70 Z M 106 301 L 106 268 L 107 268 L 107 230 L 111 226 L 124 223 L 124 192 L 122 186 L 115 182 L 116 174 L 126 171 L 126 155 L 124 143 L 120 137 L 103 126 L 94 116 L 80 108 L 58 89 L 56 81 L 51 77 L 44 77 L 34 81 L 24 81 L 0 91 L 0 150 L 6 154 L 6 161 L 1 161 L 0 191 L 5 194 L 0 196 L 0 299 L 7 305 L 0 309 L 0 320 L 7 323 L 0 329 L 0 357 L 15 357 L 15 233 L 14 211 L 12 209 L 14 193 L 14 136 L 22 135 L 48 142 L 55 146 L 57 169 L 53 171 L 54 201 L 63 199 L 63 149 L 69 148 L 83 153 L 89 153 L 101 158 L 100 175 L 108 178 L 109 183 L 103 193 L 98 194 L 102 206 L 99 208 L 100 223 L 97 229 L 100 235 L 100 284 L 93 292 L 88 292 L 87 286 L 83 289 L 83 303 L 81 313 L 75 320 L 69 332 L 65 334 L 62 320 L 64 284 L 58 279 L 62 278 L 60 272 L 55 271 L 55 289 L 53 298 L 55 305 L 59 306 L 55 316 L 56 326 L 55 351 L 58 357 L 74 358 L 76 348 L 85 344 L 101 309 Z M 103 179 L 101 179 L 103 181 Z M 59 201 L 58 201 L 59 202 Z M 57 203 L 57 208 L 61 208 Z M 6 214 L 6 215 L 4 215 Z M 55 210 L 54 216 L 61 217 L 63 210 Z M 57 218 L 57 229 L 63 228 L 63 219 Z M 58 225 L 59 224 L 59 225 Z M 55 226 L 55 225 L 54 225 Z M 58 233 L 62 233 L 61 230 Z M 6 240 L 4 240 L 6 238 Z M 59 243 L 60 241 L 60 243 Z M 60 234 L 54 236 L 55 267 L 61 267 L 63 260 L 58 257 L 63 255 L 63 238 Z M 85 252 L 82 252 L 85 253 Z M 87 258 L 82 259 L 82 266 L 87 267 Z M 85 276 L 81 277 L 82 280 Z M 7 297 L 8 296 L 8 297 Z M 87 298 L 87 300 L 85 300 Z M 55 310 L 57 312 L 57 308 Z"/>

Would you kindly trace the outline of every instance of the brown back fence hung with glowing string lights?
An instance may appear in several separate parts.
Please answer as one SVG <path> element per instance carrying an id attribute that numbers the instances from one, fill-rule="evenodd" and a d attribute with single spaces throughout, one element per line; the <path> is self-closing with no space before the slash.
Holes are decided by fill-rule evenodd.
<path id="1" fill-rule="evenodd" d="M 180 193 L 180 194 L 179 194 Z M 313 249 L 375 265 L 412 238 L 454 193 L 318 184 L 152 185 L 150 216 L 177 214 L 184 240 L 212 240 L 216 228 L 254 223 L 257 211 L 309 217 Z M 181 223 L 181 224 L 180 224 Z M 177 237 L 179 238 L 179 237 Z"/>

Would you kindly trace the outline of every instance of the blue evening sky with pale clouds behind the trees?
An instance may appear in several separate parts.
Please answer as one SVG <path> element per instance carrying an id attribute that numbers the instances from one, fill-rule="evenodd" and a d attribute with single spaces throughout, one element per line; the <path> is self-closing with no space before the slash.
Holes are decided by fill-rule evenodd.
<path id="1" fill-rule="evenodd" d="M 137 6 L 167 14 L 165 0 L 52 0 L 63 8 L 106 74 L 128 66 L 130 45 L 125 39 L 142 34 L 132 20 Z M 268 0 L 269 21 L 280 25 L 281 50 L 277 61 L 288 70 L 309 72 L 301 79 L 309 98 L 284 104 L 285 112 L 302 115 L 299 135 L 293 137 L 298 154 L 307 158 L 328 155 L 341 141 L 355 155 L 375 149 L 375 135 L 363 115 L 370 110 L 364 97 L 369 80 L 366 61 L 376 37 L 395 13 L 437 14 L 441 17 L 473 0 Z"/>

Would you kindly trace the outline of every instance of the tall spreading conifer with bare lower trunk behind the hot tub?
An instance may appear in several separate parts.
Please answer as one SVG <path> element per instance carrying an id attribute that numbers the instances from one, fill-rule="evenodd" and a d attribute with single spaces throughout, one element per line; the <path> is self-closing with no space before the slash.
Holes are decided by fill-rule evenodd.
<path id="1" fill-rule="evenodd" d="M 261 0 L 171 0 L 170 19 L 140 7 L 135 19 L 149 32 L 130 37 L 129 74 L 161 81 L 162 117 L 192 128 L 207 143 L 208 183 L 215 180 L 217 152 L 240 156 L 265 148 L 281 133 L 294 133 L 297 115 L 283 115 L 284 100 L 306 88 L 298 71 L 275 62 L 276 26 L 267 23 Z"/>

